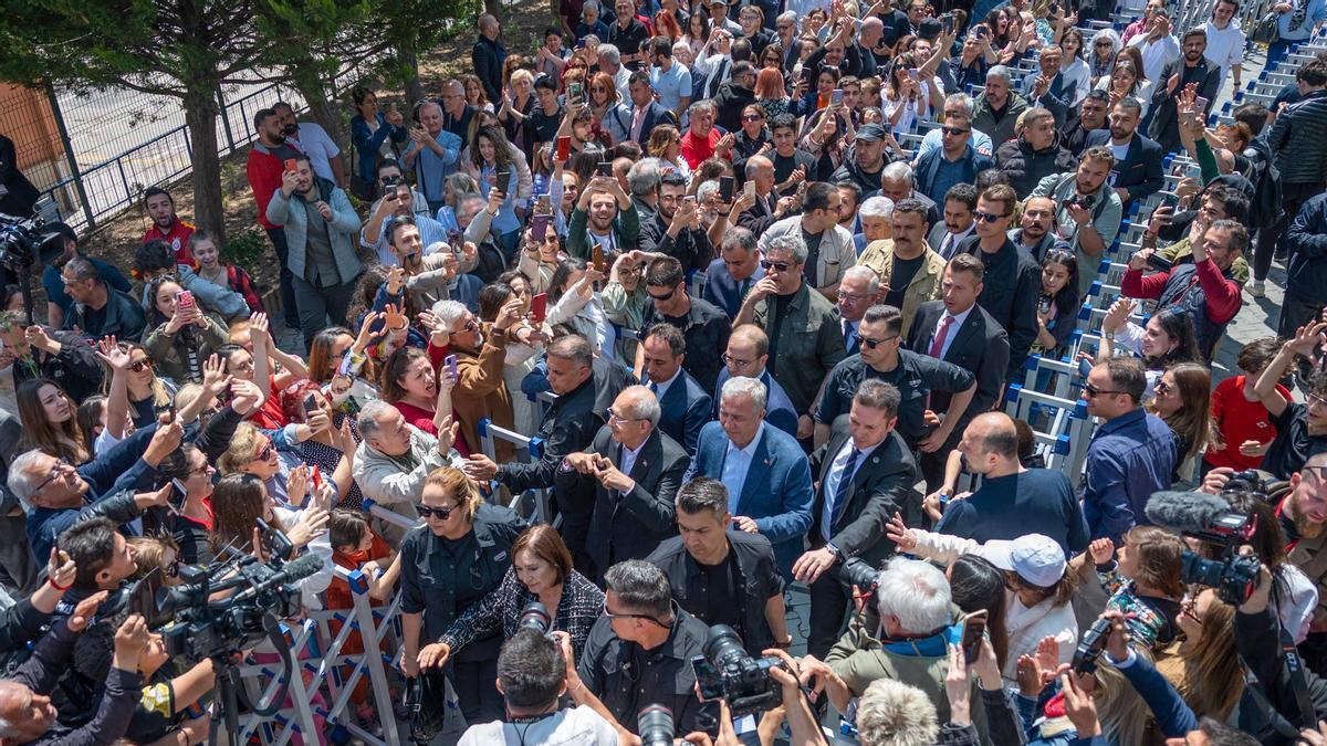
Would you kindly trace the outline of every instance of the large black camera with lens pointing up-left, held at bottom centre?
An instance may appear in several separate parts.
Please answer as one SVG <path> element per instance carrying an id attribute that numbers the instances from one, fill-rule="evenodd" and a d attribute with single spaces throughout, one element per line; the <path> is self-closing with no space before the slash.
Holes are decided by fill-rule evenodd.
<path id="1" fill-rule="evenodd" d="M 775 657 L 752 658 L 731 627 L 717 624 L 705 640 L 703 656 L 691 658 L 702 701 L 726 700 L 733 717 L 770 710 L 782 701 L 779 682 L 770 669 L 782 666 Z"/>

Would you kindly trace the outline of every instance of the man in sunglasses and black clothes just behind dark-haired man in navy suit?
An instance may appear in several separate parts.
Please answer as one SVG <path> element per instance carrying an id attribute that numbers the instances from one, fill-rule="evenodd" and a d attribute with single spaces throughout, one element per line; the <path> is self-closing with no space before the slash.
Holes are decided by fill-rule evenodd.
<path id="1" fill-rule="evenodd" d="M 682 368 L 690 373 L 706 392 L 714 390 L 723 362 L 719 354 L 729 344 L 733 325 L 723 311 L 707 300 L 693 299 L 686 292 L 686 273 L 682 264 L 666 256 L 652 261 L 645 269 L 645 301 L 641 328 L 654 324 L 671 324 L 682 332 L 686 340 L 686 356 Z M 644 350 L 638 346 L 636 356 L 637 374 L 644 373 Z"/>

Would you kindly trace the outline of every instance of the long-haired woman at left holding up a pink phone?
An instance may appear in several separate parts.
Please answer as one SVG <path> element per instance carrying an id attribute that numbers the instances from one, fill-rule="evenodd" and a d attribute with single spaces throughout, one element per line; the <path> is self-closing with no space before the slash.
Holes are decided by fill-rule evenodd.
<path id="1" fill-rule="evenodd" d="M 188 303 L 180 303 L 184 291 L 171 275 L 153 277 L 147 283 L 147 333 L 143 349 L 151 356 L 157 370 L 180 384 L 203 380 L 203 361 L 226 345 L 228 332 L 192 293 Z"/>

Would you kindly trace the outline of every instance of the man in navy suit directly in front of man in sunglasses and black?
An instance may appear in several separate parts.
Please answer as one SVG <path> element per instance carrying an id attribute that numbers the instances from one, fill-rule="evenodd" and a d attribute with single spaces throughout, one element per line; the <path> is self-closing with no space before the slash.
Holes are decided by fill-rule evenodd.
<path id="1" fill-rule="evenodd" d="M 695 378 L 682 370 L 686 338 L 677 327 L 660 323 L 645 332 L 641 352 L 645 377 L 662 410 L 660 430 L 682 443 L 690 457 L 695 454 L 701 427 L 710 421 L 714 401 Z"/>

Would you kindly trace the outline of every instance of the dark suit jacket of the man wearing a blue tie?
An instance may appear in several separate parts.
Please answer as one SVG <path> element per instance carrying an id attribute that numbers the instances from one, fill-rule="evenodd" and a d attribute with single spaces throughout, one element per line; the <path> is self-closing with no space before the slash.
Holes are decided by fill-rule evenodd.
<path id="1" fill-rule="evenodd" d="M 837 431 L 829 437 L 828 443 L 811 454 L 811 469 L 817 482 L 815 500 L 811 503 L 811 532 L 807 536 L 812 547 L 825 543 L 821 536 L 825 482 L 835 457 L 847 442 L 848 433 Z M 902 435 L 890 430 L 884 442 L 852 473 L 848 503 L 840 508 L 839 520 L 829 527 L 829 542 L 839 548 L 843 559 L 861 558 L 872 567 L 878 567 L 881 560 L 894 554 L 894 543 L 885 539 L 885 524 L 894 511 L 902 510 L 916 483 L 917 462 Z"/>

